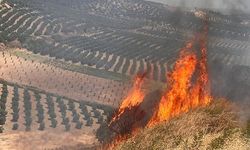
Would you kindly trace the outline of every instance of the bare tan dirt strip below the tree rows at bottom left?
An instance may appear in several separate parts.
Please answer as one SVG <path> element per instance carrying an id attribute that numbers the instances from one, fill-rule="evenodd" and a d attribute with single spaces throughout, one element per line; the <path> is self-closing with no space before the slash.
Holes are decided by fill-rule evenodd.
<path id="1" fill-rule="evenodd" d="M 76 145 L 87 148 L 96 144 L 94 135 L 81 132 L 20 131 L 0 137 L 0 150 L 48 150 Z"/>

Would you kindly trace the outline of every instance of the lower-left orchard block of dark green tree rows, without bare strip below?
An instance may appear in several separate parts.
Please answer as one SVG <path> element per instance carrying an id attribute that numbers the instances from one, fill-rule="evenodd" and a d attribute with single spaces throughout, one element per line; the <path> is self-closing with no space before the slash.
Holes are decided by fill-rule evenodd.
<path id="1" fill-rule="evenodd" d="M 91 133 L 105 122 L 112 111 L 108 106 L 78 102 L 3 80 L 0 86 L 1 101 L 6 98 L 5 110 L 8 112 L 4 132 L 86 128 L 85 131 Z"/>

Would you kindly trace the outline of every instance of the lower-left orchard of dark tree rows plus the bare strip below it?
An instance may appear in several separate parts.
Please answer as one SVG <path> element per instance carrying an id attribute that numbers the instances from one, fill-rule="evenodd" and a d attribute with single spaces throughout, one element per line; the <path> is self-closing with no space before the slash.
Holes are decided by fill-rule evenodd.
<path id="1" fill-rule="evenodd" d="M 35 139 L 40 137 L 40 143 L 37 141 L 38 145 L 35 145 L 36 141 L 34 141 L 30 144 L 33 148 L 38 149 L 41 146 L 44 149 L 50 146 L 57 147 L 59 145 L 60 147 L 67 145 L 67 143 L 57 145 L 58 141 L 56 140 L 58 139 L 51 140 L 52 143 L 55 142 L 54 144 L 41 144 L 41 142 L 45 142 L 46 138 L 51 138 L 51 136 L 53 138 L 61 138 L 60 136 L 77 138 L 82 136 L 81 138 L 87 139 L 80 144 L 84 144 L 84 142 L 86 142 L 85 144 L 93 144 L 97 142 L 95 138 L 96 130 L 106 122 L 108 116 L 112 113 L 112 108 L 109 106 L 87 101 L 79 102 L 30 87 L 19 86 L 4 80 L 0 81 L 0 89 L 0 100 L 5 102 L 4 105 L 1 103 L 1 110 L 4 108 L 7 112 L 1 136 L 5 137 L 7 143 L 16 134 L 19 134 L 17 140 L 21 140 L 21 136 L 33 134 L 32 137 Z M 23 135 L 22 133 L 24 132 L 25 134 Z M 9 135 L 9 137 L 6 135 Z M 29 137 L 25 138 L 23 139 L 24 143 L 21 142 L 19 143 L 20 145 L 25 145 L 25 142 L 31 140 Z M 66 142 L 65 140 L 67 139 L 61 140 Z M 9 145 L 9 143 L 5 145 L 3 142 L 0 142 L 0 145 L 5 148 L 6 146 L 13 146 L 12 148 L 7 147 L 7 149 L 17 148 L 14 144 Z M 31 145 L 26 146 L 28 149 L 32 149 Z"/>

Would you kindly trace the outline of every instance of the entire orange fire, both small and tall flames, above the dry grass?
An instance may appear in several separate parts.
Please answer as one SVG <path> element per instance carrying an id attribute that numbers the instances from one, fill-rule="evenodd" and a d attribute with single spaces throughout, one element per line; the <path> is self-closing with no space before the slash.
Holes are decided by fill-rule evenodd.
<path id="1" fill-rule="evenodd" d="M 159 97 L 159 102 L 155 97 L 150 101 L 152 104 L 156 102 L 156 106 L 149 107 L 153 111 L 150 115 L 150 110 L 142 107 L 147 102 L 144 101 L 147 94 L 142 90 L 146 74 L 138 75 L 135 78 L 131 91 L 122 101 L 109 124 L 109 127 L 113 129 L 114 125 L 123 125 L 125 131 L 129 133 L 118 135 L 113 141 L 113 146 L 116 145 L 114 143 L 126 139 L 129 134 L 135 135 L 137 128 L 151 127 L 198 106 L 206 106 L 211 102 L 207 71 L 207 33 L 208 27 L 205 26 L 203 33 L 197 34 L 180 50 L 173 71 L 168 73 L 168 88 Z M 198 51 L 197 46 L 199 46 Z M 126 118 L 127 116 L 129 117 Z M 131 121 L 133 119 L 135 121 Z M 143 122 L 145 120 L 146 122 Z"/>

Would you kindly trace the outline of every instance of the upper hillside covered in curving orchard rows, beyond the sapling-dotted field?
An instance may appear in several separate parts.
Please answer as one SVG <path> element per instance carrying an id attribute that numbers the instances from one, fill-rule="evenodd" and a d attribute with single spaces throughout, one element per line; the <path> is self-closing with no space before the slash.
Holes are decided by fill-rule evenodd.
<path id="1" fill-rule="evenodd" d="M 19 39 L 33 53 L 95 69 L 164 81 L 178 50 L 202 27 L 195 12 L 143 0 L 8 0 L 1 37 Z M 248 15 L 206 12 L 209 61 L 249 65 Z M 181 19 L 180 19 L 181 18 Z"/>

